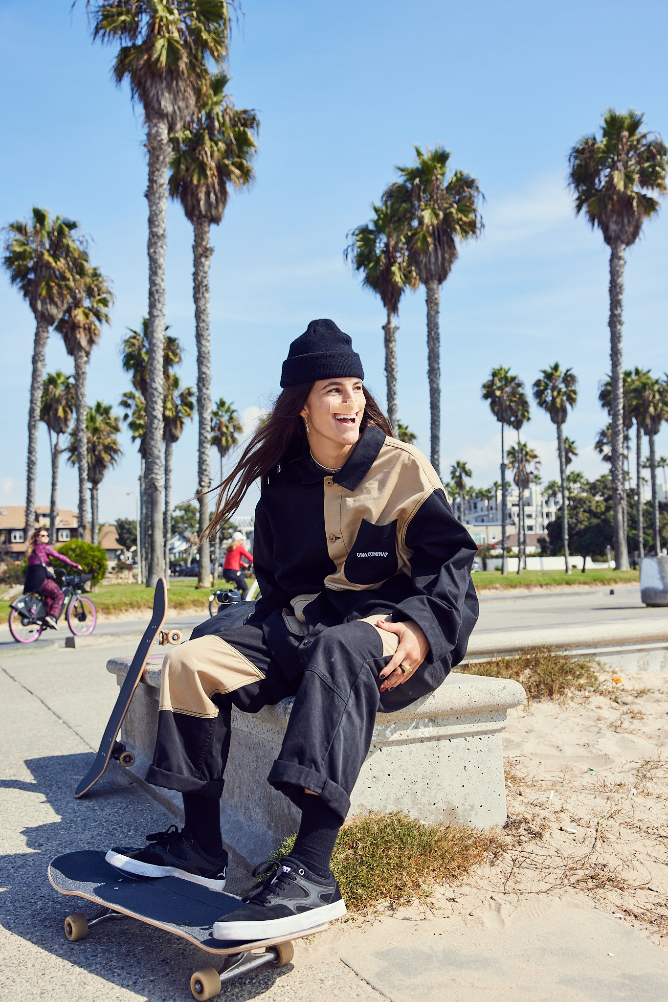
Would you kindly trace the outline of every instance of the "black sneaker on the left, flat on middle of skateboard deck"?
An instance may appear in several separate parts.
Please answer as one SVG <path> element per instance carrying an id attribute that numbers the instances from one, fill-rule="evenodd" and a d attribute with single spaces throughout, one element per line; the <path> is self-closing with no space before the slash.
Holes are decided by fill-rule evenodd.
<path id="1" fill-rule="evenodd" d="M 150 845 L 143 849 L 116 846 L 104 858 L 112 867 L 126 874 L 180 877 L 211 891 L 222 891 L 227 870 L 227 853 L 224 850 L 217 859 L 207 856 L 186 828 L 179 832 L 175 825 L 170 825 L 166 832 L 147 835 L 146 841 Z"/>

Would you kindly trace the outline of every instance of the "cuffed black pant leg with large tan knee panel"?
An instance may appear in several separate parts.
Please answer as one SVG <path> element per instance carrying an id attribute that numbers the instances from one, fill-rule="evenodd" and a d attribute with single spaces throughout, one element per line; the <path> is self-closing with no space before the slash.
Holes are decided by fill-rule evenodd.
<path id="1" fill-rule="evenodd" d="M 174 647 L 162 664 L 157 738 L 146 780 L 219 798 L 231 697 L 242 688 L 257 689 L 271 663 L 261 629 L 247 625 Z"/>

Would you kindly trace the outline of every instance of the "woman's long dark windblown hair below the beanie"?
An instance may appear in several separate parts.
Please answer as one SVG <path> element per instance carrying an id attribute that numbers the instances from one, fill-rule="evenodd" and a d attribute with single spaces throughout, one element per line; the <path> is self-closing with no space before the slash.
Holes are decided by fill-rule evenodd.
<path id="1" fill-rule="evenodd" d="M 204 530 L 205 537 L 212 536 L 218 526 L 224 525 L 234 514 L 255 480 L 259 480 L 259 489 L 263 491 L 272 473 L 277 473 L 281 466 L 286 466 L 301 455 L 308 441 L 299 412 L 312 387 L 312 383 L 297 383 L 295 386 L 285 387 L 268 418 L 260 424 L 241 453 L 232 472 L 218 487 L 211 488 L 211 492 L 219 490 L 220 493 L 215 514 Z M 392 436 L 392 428 L 385 414 L 369 390 L 366 387 L 363 390 L 367 403 L 360 424 L 360 434 L 369 425 L 376 425 L 386 435 Z"/>

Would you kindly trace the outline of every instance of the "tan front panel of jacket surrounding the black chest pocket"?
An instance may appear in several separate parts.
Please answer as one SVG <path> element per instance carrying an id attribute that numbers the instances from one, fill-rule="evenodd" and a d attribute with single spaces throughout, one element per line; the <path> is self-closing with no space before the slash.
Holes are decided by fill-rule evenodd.
<path id="1" fill-rule="evenodd" d="M 327 550 L 337 565 L 336 572 L 324 579 L 325 587 L 365 591 L 378 588 L 383 583 L 355 584 L 344 573 L 346 558 L 355 544 L 363 519 L 375 525 L 388 525 L 397 519 L 399 570 L 410 574 L 411 551 L 406 546 L 407 527 L 426 498 L 435 490 L 443 490 L 436 470 L 420 449 L 388 436 L 376 462 L 357 490 L 346 490 L 330 477 L 323 479 Z"/>

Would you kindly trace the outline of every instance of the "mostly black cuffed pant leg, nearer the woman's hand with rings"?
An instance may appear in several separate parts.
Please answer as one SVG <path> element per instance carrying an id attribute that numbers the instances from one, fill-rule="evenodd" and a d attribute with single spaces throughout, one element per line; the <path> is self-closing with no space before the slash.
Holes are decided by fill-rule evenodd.
<path id="1" fill-rule="evenodd" d="M 381 634 L 362 620 L 332 626 L 313 640 L 268 776 L 271 786 L 297 807 L 305 788 L 345 820 L 374 732 L 379 673 L 396 648 L 396 634 Z"/>

